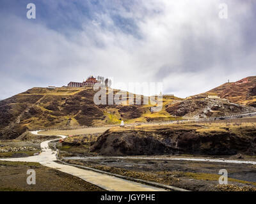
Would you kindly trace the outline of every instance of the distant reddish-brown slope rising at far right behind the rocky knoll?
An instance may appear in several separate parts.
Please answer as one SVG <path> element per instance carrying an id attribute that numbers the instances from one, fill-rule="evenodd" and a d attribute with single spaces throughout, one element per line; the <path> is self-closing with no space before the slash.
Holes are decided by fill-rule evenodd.
<path id="1" fill-rule="evenodd" d="M 256 107 L 256 76 L 246 77 L 237 82 L 225 83 L 205 93 L 192 96 L 192 98 L 205 98 L 209 94 L 226 98 L 232 103 Z"/>

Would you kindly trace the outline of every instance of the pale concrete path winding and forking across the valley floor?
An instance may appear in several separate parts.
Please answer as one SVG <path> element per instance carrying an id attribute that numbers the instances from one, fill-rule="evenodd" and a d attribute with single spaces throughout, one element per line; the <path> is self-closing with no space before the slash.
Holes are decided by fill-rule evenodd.
<path id="1" fill-rule="evenodd" d="M 34 135 L 38 135 L 38 131 L 31 131 Z M 58 135 L 61 138 L 66 136 Z M 56 140 L 56 139 L 55 139 Z M 24 161 L 24 162 L 36 162 L 44 166 L 54 168 L 70 175 L 79 177 L 80 179 L 85 180 L 91 184 L 106 189 L 107 191 L 165 191 L 164 189 L 158 187 L 147 186 L 145 184 L 140 184 L 137 182 L 132 182 L 125 179 L 120 179 L 113 177 L 111 175 L 106 175 L 103 173 L 97 173 L 95 171 L 84 170 L 81 168 L 76 168 L 74 166 L 69 166 L 65 164 L 56 163 L 57 152 L 50 149 L 48 143 L 54 140 L 47 140 L 40 144 L 42 153 L 38 156 L 31 157 L 20 157 L 20 158 L 5 158 L 0 159 L 1 161 Z"/>

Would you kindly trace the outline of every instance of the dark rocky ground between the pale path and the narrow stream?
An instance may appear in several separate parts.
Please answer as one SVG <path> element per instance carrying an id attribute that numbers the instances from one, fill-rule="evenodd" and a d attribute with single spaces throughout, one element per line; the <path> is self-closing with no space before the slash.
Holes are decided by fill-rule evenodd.
<path id="1" fill-rule="evenodd" d="M 124 158 L 65 161 L 190 191 L 256 191 L 256 166 L 252 164 Z M 221 169 L 228 171 L 228 185 L 219 185 Z"/>

